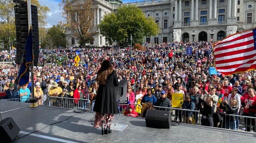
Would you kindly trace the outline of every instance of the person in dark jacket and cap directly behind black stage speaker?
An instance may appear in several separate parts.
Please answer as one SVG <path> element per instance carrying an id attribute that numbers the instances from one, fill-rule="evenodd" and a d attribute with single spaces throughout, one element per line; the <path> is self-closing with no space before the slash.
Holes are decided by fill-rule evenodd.
<path id="1" fill-rule="evenodd" d="M 156 103 L 157 107 L 156 109 L 158 110 L 166 110 L 169 111 L 168 108 L 160 108 L 160 107 L 172 107 L 171 101 L 169 100 L 169 98 L 166 97 L 166 92 L 164 90 L 162 90 L 160 92 L 160 98 L 157 99 L 157 103 Z"/>

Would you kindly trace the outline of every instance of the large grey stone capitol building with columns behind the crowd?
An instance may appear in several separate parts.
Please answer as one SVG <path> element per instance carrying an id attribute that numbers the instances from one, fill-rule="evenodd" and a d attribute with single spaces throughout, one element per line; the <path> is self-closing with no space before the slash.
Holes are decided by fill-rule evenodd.
<path id="1" fill-rule="evenodd" d="M 121 0 L 95 0 L 94 25 L 105 14 L 119 6 L 134 5 L 141 8 L 146 17 L 154 17 L 160 33 L 144 37 L 148 43 L 191 42 L 221 40 L 230 34 L 256 27 L 256 0 L 145 0 L 122 3 Z M 67 31 L 68 45 L 76 45 L 76 37 Z M 108 45 L 104 36 L 97 34 L 90 46 Z"/>

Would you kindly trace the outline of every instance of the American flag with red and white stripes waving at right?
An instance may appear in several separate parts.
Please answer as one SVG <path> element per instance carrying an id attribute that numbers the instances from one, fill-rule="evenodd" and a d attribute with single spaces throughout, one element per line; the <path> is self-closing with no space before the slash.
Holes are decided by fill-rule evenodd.
<path id="1" fill-rule="evenodd" d="M 256 69 L 256 28 L 214 44 L 215 67 L 224 75 Z"/>

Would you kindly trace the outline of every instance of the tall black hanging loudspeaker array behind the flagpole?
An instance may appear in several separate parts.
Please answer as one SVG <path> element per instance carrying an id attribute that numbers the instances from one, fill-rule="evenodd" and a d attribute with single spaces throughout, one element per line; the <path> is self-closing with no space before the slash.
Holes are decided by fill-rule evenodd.
<path id="1" fill-rule="evenodd" d="M 16 26 L 16 40 L 17 40 L 17 55 L 16 63 L 20 64 L 23 49 L 25 47 L 26 38 L 29 34 L 28 26 L 28 9 L 27 4 L 17 4 L 14 6 L 15 10 L 15 26 Z M 33 38 L 33 50 L 34 50 L 34 66 L 38 64 L 39 56 L 39 29 L 38 29 L 38 9 L 37 6 L 31 5 L 32 15 L 32 38 Z"/>

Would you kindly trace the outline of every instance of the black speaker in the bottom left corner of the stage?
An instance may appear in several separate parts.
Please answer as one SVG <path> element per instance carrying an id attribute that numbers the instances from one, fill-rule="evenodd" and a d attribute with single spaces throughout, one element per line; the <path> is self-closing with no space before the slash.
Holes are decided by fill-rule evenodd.
<path id="1" fill-rule="evenodd" d="M 19 132 L 20 128 L 12 118 L 8 117 L 0 121 L 1 143 L 11 142 Z"/>

